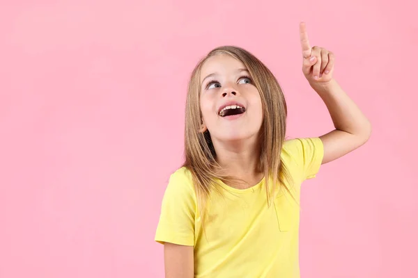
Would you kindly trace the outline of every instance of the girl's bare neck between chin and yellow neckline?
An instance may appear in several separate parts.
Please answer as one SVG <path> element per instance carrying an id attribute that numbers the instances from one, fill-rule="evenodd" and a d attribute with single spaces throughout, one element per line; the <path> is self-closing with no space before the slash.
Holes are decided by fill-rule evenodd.
<path id="1" fill-rule="evenodd" d="M 233 142 L 213 142 L 217 154 L 217 163 L 223 174 L 242 179 L 245 184 L 231 185 L 245 188 L 254 186 L 263 177 L 258 171 L 260 148 L 258 140 L 235 140 Z"/>

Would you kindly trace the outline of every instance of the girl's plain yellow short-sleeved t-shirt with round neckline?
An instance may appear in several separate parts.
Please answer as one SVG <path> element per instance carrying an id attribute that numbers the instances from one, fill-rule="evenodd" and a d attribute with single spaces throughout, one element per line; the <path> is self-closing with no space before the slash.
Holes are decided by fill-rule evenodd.
<path id="1" fill-rule="evenodd" d="M 244 190 L 221 183 L 222 195 L 214 192 L 208 199 L 203 234 L 192 176 L 182 167 L 170 177 L 155 240 L 194 246 L 195 277 L 300 277 L 300 184 L 318 172 L 323 143 L 320 138 L 288 140 L 281 156 L 297 202 L 281 190 L 269 207 L 264 180 Z"/>

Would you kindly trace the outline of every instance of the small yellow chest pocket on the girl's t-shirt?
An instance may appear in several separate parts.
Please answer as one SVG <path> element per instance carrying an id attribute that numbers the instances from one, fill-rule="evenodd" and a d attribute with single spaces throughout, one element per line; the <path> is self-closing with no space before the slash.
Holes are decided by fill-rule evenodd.
<path id="1" fill-rule="evenodd" d="M 292 231 L 299 222 L 299 209 L 292 197 L 281 194 L 274 199 L 280 231 Z"/>

